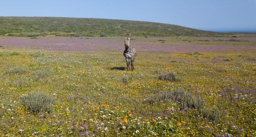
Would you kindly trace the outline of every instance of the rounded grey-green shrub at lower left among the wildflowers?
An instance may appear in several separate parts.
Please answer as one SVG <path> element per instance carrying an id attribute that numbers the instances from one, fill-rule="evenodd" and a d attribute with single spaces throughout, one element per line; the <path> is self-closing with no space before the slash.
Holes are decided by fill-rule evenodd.
<path id="1" fill-rule="evenodd" d="M 55 100 L 44 92 L 32 92 L 22 97 L 22 104 L 32 113 L 52 112 Z"/>

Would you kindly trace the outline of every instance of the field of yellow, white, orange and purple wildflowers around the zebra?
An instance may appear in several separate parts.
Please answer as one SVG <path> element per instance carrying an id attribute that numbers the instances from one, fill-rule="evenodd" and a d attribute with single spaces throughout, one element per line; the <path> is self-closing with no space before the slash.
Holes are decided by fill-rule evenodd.
<path id="1" fill-rule="evenodd" d="M 93 38 L 90 50 L 79 38 L 14 38 L 0 37 L 0 136 L 256 136 L 254 37 L 136 39 L 134 71 L 118 38 Z M 166 72 L 178 80 L 160 80 Z M 31 112 L 22 99 L 32 92 L 54 99 L 52 111 Z"/>

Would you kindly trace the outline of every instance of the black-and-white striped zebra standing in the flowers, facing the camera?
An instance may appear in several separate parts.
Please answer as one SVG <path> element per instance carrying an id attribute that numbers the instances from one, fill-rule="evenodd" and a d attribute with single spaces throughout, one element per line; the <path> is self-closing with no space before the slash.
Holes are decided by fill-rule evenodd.
<path id="1" fill-rule="evenodd" d="M 127 64 L 127 70 L 130 70 L 130 62 L 129 59 L 131 60 L 131 67 L 132 70 L 134 70 L 134 65 L 133 62 L 135 60 L 135 56 L 136 56 L 136 52 L 135 49 L 132 48 L 132 46 L 130 45 L 130 38 L 132 37 L 131 34 L 129 34 L 129 36 L 127 37 L 126 34 L 124 34 L 124 46 L 125 46 L 125 50 L 123 51 L 123 56 L 125 57 L 126 60 L 126 64 Z"/>

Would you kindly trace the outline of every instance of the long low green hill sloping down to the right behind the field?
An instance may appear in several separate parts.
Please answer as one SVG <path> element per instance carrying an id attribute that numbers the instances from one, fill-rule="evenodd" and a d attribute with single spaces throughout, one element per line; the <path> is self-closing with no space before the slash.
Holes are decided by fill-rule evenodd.
<path id="1" fill-rule="evenodd" d="M 116 37 L 132 33 L 142 37 L 213 36 L 219 33 L 178 25 L 117 19 L 0 17 L 0 35 Z"/>

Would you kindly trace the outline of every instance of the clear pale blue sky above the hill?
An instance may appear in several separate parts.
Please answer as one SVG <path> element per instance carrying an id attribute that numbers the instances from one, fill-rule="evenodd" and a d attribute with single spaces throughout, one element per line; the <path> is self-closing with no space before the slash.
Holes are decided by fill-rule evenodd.
<path id="1" fill-rule="evenodd" d="M 0 16 L 124 19 L 256 32 L 256 0 L 0 0 Z"/>

